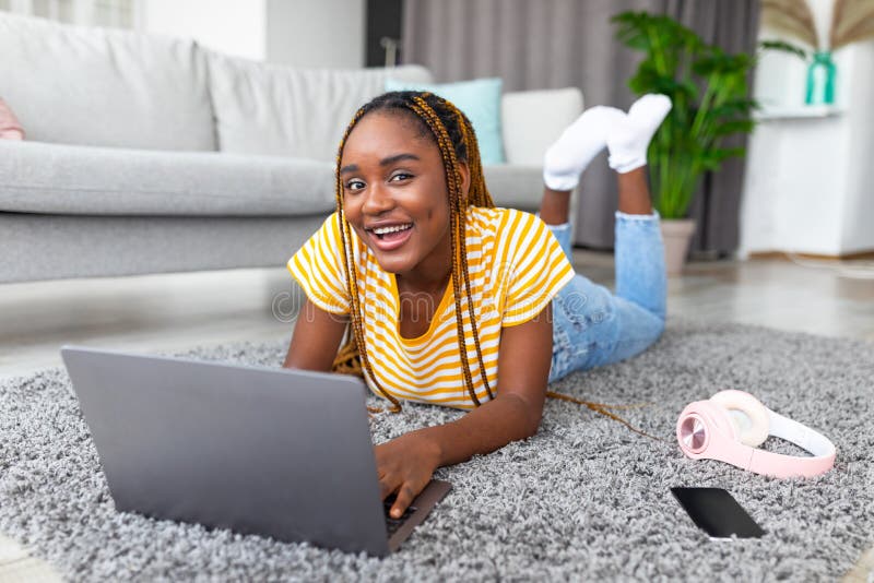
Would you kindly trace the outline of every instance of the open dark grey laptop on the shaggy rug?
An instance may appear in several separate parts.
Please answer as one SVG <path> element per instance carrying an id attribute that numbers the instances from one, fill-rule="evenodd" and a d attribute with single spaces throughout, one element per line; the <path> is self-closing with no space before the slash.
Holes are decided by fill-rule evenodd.
<path id="1" fill-rule="evenodd" d="M 449 491 L 404 516 L 379 495 L 362 380 L 63 346 L 116 509 L 385 557 Z"/>

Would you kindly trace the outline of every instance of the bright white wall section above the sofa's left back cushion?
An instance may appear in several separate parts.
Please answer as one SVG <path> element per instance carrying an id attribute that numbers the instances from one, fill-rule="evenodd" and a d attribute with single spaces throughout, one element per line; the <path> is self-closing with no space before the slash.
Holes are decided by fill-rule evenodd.
<path id="1" fill-rule="evenodd" d="M 141 0 L 139 10 L 143 32 L 190 37 L 237 57 L 267 56 L 265 0 Z"/>

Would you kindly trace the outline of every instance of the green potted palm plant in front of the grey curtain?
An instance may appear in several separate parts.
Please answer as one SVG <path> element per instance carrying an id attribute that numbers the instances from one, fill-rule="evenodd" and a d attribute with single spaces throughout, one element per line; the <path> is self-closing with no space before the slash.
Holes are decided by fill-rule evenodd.
<path id="1" fill-rule="evenodd" d="M 755 102 L 747 75 L 754 58 L 706 44 L 670 16 L 623 12 L 613 16 L 616 38 L 643 52 L 628 81 L 637 95 L 668 95 L 673 107 L 650 142 L 647 158 L 653 206 L 662 216 L 669 274 L 680 273 L 695 231 L 689 206 L 704 174 L 744 154 L 724 140 L 753 130 Z"/>

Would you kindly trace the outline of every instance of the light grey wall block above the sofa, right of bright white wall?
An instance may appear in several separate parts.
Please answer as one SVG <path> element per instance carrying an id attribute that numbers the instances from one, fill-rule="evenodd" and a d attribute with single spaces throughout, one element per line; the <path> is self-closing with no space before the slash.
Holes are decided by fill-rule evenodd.
<path id="1" fill-rule="evenodd" d="M 365 0 L 267 0 L 267 60 L 304 68 L 365 63 Z"/>

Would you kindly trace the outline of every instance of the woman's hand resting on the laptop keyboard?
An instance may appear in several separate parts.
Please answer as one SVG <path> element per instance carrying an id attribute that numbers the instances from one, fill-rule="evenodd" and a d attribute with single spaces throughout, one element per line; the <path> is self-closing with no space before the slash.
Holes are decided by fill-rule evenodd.
<path id="1" fill-rule="evenodd" d="M 425 489 L 440 465 L 437 444 L 418 432 L 403 435 L 374 448 L 379 476 L 379 496 L 385 500 L 397 491 L 390 515 L 400 517 Z"/>

